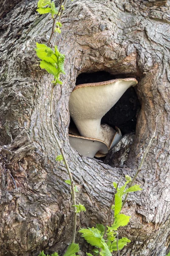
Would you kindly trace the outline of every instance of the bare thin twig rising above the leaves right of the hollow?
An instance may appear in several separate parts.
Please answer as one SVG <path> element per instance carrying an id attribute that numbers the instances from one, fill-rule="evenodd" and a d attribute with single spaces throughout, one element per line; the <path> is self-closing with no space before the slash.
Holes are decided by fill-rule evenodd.
<path id="1" fill-rule="evenodd" d="M 130 182 L 128 188 L 130 188 L 130 187 L 133 185 L 133 182 L 136 180 L 136 177 L 138 176 L 139 172 L 141 171 L 142 166 L 143 166 L 143 163 L 144 163 L 144 159 L 145 159 L 145 157 L 146 157 L 146 155 L 147 155 L 147 153 L 148 153 L 148 151 L 149 151 L 149 149 L 150 149 L 150 146 L 151 146 L 152 143 L 153 143 L 153 140 L 155 139 L 156 126 L 157 126 L 157 117 L 158 117 L 159 113 L 160 113 L 160 111 L 159 111 L 159 112 L 156 114 L 156 116 L 155 116 L 156 120 L 155 120 L 155 125 L 154 125 L 154 129 L 153 129 L 153 134 L 152 134 L 152 137 L 151 137 L 151 139 L 150 139 L 150 142 L 149 142 L 149 144 L 147 145 L 146 150 L 144 151 L 144 154 L 143 154 L 143 156 L 142 156 L 142 160 L 141 160 L 141 162 L 140 162 L 140 165 L 139 165 L 139 167 L 138 167 L 138 169 L 137 169 L 137 171 L 136 171 L 135 176 L 133 177 L 132 181 Z M 123 204 L 122 204 L 122 208 L 124 207 L 124 205 L 125 205 L 125 203 L 126 203 L 126 201 L 127 201 L 128 195 L 129 195 L 129 193 L 127 193 L 126 196 L 125 196 L 125 199 L 124 199 Z"/>

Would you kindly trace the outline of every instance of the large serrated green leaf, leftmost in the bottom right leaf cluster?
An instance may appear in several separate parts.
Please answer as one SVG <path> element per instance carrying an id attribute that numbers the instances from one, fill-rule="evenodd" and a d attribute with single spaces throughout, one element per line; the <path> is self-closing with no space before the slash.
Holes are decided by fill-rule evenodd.
<path id="1" fill-rule="evenodd" d="M 84 239 L 92 246 L 96 246 L 98 248 L 104 248 L 103 244 L 105 243 L 105 240 L 102 238 L 97 228 L 88 227 L 88 229 L 86 228 L 80 229 L 79 233 L 82 233 L 82 237 L 84 237 Z"/>

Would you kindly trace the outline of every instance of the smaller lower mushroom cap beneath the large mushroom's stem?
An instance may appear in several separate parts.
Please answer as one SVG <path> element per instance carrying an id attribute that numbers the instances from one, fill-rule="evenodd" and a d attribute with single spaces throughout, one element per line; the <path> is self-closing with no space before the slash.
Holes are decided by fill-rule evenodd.
<path id="1" fill-rule="evenodd" d="M 98 151 L 101 151 L 102 154 L 108 153 L 108 146 L 103 141 L 94 138 L 69 134 L 69 142 L 83 157 L 93 158 Z"/>

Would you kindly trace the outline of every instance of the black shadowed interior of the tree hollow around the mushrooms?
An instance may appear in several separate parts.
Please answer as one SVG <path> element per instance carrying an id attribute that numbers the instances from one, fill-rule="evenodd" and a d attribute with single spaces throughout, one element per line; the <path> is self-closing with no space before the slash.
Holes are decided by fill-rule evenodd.
<path id="1" fill-rule="evenodd" d="M 95 73 L 81 73 L 77 77 L 76 85 L 103 82 L 112 79 L 125 79 L 129 75 L 117 74 L 112 75 L 105 71 L 98 71 Z M 125 134 L 134 133 L 136 130 L 136 120 L 140 111 L 139 99 L 136 95 L 134 87 L 128 88 L 116 104 L 102 117 L 101 125 L 106 124 L 115 129 L 118 127 L 122 136 Z M 74 122 L 71 118 L 70 127 L 75 128 Z M 105 160 L 105 157 L 98 158 Z"/>

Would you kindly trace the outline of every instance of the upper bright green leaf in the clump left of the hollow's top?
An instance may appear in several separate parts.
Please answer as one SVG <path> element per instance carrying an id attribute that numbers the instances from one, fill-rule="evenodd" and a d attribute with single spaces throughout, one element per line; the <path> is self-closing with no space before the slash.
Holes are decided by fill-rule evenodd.
<path id="1" fill-rule="evenodd" d="M 38 58 L 42 59 L 43 61 L 50 62 L 51 64 L 57 64 L 57 57 L 50 47 L 46 46 L 45 44 L 36 44 L 37 48 L 35 50 Z"/>

